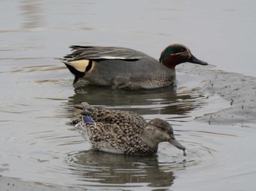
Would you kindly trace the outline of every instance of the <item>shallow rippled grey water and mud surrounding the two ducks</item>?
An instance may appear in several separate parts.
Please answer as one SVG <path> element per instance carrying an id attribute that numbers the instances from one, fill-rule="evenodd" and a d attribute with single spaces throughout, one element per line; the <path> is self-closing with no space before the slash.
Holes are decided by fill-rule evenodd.
<path id="1" fill-rule="evenodd" d="M 1 190 L 254 190 L 254 4 L 2 1 Z M 216 67 L 182 64 L 176 88 L 74 90 L 72 75 L 53 59 L 70 44 L 158 58 L 176 42 Z M 92 152 L 65 125 L 81 101 L 167 120 L 187 156 L 167 143 L 151 157 Z"/>

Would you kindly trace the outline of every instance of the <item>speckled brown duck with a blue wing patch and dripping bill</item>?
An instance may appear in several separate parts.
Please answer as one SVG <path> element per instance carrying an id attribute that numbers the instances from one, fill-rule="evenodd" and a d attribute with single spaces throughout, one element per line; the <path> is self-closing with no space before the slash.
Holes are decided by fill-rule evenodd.
<path id="1" fill-rule="evenodd" d="M 89 140 L 94 150 L 128 155 L 152 155 L 158 144 L 168 141 L 178 149 L 183 147 L 176 141 L 172 126 L 165 120 L 154 119 L 149 122 L 134 112 L 96 109 L 86 102 L 83 112 L 70 125 Z"/>

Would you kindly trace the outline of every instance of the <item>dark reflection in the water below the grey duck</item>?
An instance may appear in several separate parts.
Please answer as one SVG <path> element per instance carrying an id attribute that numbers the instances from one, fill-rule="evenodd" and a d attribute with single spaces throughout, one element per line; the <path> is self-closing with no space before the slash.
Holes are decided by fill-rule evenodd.
<path id="1" fill-rule="evenodd" d="M 189 117 L 189 112 L 206 101 L 198 93 L 198 89 L 179 90 L 176 87 L 162 87 L 153 90 L 124 90 L 88 85 L 75 89 L 69 97 L 67 110 L 69 117 L 74 115 L 74 106 L 86 101 L 94 106 L 106 109 L 121 109 L 138 114 L 175 114 Z"/>

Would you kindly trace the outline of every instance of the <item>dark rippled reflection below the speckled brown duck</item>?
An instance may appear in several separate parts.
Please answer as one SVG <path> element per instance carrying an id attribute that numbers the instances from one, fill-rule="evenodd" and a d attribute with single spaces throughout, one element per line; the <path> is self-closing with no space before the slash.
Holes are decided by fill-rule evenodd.
<path id="1" fill-rule="evenodd" d="M 175 179 L 172 168 L 175 168 L 176 163 L 161 166 L 157 157 L 115 155 L 89 150 L 69 155 L 69 166 L 72 174 L 78 175 L 83 182 L 94 180 L 102 184 L 132 186 L 135 183 L 146 183 L 150 187 L 170 187 Z"/>

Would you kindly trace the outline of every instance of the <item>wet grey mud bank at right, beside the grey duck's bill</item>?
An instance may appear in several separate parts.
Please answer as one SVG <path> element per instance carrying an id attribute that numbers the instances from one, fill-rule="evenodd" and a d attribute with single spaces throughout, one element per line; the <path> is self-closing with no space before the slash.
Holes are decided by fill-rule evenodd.
<path id="1" fill-rule="evenodd" d="M 197 67 L 181 65 L 177 71 L 206 78 L 203 92 L 219 95 L 230 103 L 218 112 L 204 114 L 195 120 L 216 125 L 256 126 L 256 78 L 243 74 L 219 71 L 214 66 Z"/>

